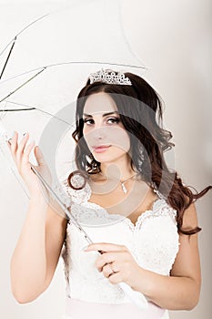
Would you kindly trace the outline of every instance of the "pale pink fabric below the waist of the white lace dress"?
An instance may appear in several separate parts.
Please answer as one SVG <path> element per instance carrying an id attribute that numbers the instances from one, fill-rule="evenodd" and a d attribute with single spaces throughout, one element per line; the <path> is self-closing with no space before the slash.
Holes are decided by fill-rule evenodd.
<path id="1" fill-rule="evenodd" d="M 147 309 L 134 304 L 99 304 L 66 298 L 64 319 L 169 319 L 168 312 L 148 302 Z"/>

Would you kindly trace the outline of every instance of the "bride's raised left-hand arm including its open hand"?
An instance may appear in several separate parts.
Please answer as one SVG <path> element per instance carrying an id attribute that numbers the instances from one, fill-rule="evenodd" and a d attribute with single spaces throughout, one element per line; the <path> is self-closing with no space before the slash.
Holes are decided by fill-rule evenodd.
<path id="1" fill-rule="evenodd" d="M 18 143 L 15 132 L 8 143 L 31 197 L 11 261 L 11 288 L 19 303 L 28 303 L 45 291 L 55 273 L 66 236 L 66 219 L 56 213 L 58 210 L 55 204 L 53 209 L 53 205 L 50 206 L 46 201 L 46 193 L 41 191 L 40 182 L 31 170 L 29 154 L 34 143 L 27 145 L 28 139 L 29 135 L 26 134 Z M 45 180 L 51 180 L 43 154 L 37 148 L 35 158 L 38 162 L 37 170 Z"/>

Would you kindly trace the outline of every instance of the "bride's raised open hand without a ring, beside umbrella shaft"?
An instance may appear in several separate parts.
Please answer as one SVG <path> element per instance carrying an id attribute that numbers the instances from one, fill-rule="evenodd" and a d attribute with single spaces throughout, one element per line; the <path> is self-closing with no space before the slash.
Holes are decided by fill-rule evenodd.
<path id="1" fill-rule="evenodd" d="M 30 192 L 31 198 L 37 197 L 40 194 L 44 195 L 44 188 L 41 188 L 41 182 L 38 180 L 37 176 L 31 170 L 32 164 L 29 162 L 29 155 L 32 149 L 35 146 L 35 141 L 27 144 L 29 139 L 29 134 L 25 134 L 23 139 L 18 143 L 18 134 L 15 132 L 13 139 L 9 139 L 8 146 L 11 150 L 12 157 L 15 161 L 17 170 Z M 46 181 L 51 181 L 51 174 L 45 163 L 44 156 L 41 150 L 36 146 L 35 147 L 35 159 L 37 160 L 38 166 L 36 170 L 45 178 Z M 45 194 L 46 196 L 46 194 Z"/>

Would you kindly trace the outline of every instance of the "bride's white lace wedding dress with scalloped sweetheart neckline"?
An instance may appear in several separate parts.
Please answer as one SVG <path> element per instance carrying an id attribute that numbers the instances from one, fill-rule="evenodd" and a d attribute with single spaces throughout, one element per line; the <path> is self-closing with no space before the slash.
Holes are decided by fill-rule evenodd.
<path id="1" fill-rule="evenodd" d="M 179 248 L 177 211 L 156 191 L 151 210 L 143 212 L 136 225 L 121 214 L 109 214 L 89 202 L 91 188 L 73 190 L 63 184 L 71 214 L 93 242 L 126 245 L 140 267 L 168 276 Z M 96 269 L 98 252 L 85 252 L 87 242 L 72 221 L 67 224 L 62 252 L 66 273 L 66 319 L 168 319 L 166 309 L 148 301 L 147 309 L 133 304 L 118 284 L 112 284 Z"/>

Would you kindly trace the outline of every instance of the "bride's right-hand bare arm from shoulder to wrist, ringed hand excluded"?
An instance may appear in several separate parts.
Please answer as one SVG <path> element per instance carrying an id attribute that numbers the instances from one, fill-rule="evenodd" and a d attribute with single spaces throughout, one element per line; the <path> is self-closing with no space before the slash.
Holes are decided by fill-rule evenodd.
<path id="1" fill-rule="evenodd" d="M 183 227 L 197 226 L 194 204 L 185 211 Z M 171 276 L 163 276 L 141 269 L 141 281 L 135 289 L 145 293 L 155 304 L 170 310 L 191 310 L 199 299 L 201 273 L 197 246 L 197 234 L 179 236 L 179 252 L 171 270 Z"/>

